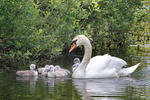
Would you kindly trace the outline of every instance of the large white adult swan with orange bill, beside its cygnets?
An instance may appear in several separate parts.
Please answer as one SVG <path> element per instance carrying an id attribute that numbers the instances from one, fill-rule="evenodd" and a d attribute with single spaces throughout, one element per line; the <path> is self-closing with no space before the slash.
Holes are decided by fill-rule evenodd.
<path id="1" fill-rule="evenodd" d="M 91 58 L 92 46 L 85 35 L 77 35 L 74 37 L 69 53 L 80 45 L 84 46 L 84 56 L 80 65 L 73 72 L 73 78 L 111 78 L 128 76 L 133 73 L 140 64 L 138 63 L 129 68 L 123 68 L 123 66 L 127 65 L 124 60 L 108 54 Z"/>

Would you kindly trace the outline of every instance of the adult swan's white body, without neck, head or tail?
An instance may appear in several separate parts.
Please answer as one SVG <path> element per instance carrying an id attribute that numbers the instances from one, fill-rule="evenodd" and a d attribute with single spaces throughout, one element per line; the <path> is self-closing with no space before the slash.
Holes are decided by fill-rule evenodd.
<path id="1" fill-rule="evenodd" d="M 91 58 L 86 67 L 86 77 L 88 78 L 105 78 L 118 77 L 117 72 L 127 63 L 117 57 L 108 54 L 95 56 Z"/>

